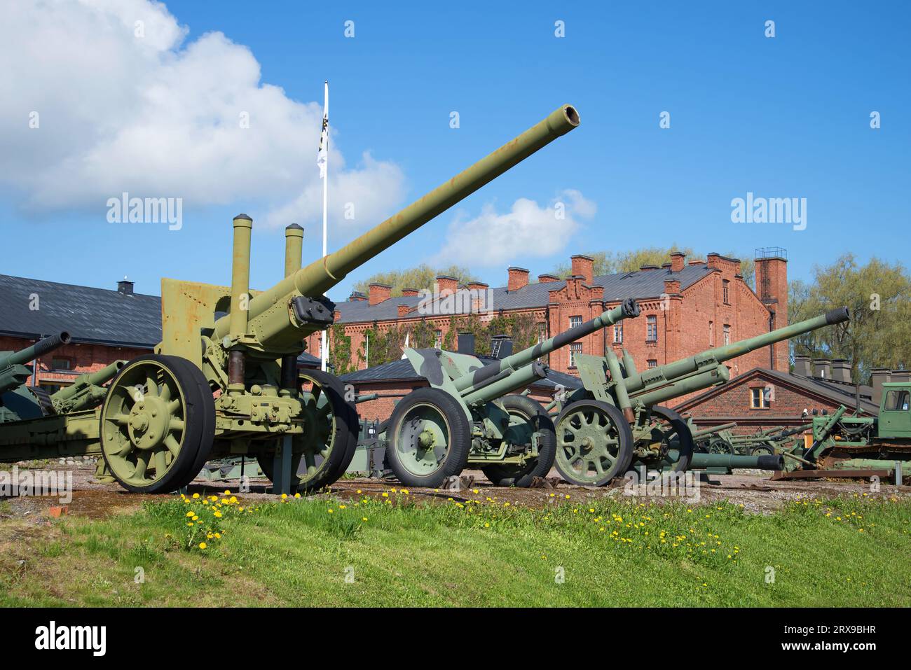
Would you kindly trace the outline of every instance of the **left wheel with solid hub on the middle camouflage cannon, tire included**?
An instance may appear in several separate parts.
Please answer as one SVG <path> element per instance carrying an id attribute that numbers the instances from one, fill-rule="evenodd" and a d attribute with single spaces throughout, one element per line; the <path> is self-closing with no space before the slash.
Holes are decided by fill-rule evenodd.
<path id="1" fill-rule="evenodd" d="M 465 470 L 471 426 L 451 395 L 417 389 L 395 405 L 386 438 L 386 462 L 399 482 L 437 487 Z"/>

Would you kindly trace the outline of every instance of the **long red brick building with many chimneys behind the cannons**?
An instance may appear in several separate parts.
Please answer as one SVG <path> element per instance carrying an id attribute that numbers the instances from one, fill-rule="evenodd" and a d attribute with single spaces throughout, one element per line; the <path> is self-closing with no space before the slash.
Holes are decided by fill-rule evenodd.
<path id="1" fill-rule="evenodd" d="M 689 262 L 682 253 L 673 253 L 661 267 L 645 266 L 635 272 L 598 277 L 593 276 L 589 257 L 573 256 L 571 262 L 572 276 L 568 279 L 543 274 L 536 283 L 529 283 L 527 269 L 509 268 L 506 285 L 495 289 L 482 282 L 460 287 L 455 279 L 441 276 L 437 278 L 437 299 L 429 303 L 429 309 L 428 301 L 415 289 L 392 297 L 389 286 L 371 284 L 368 296 L 355 292 L 337 304 L 336 323 L 342 324 L 344 334 L 351 338 L 355 359 L 354 352 L 366 350 L 365 331 L 393 326 L 407 330 L 421 321 L 435 331 L 440 346 L 452 318 L 449 313 L 440 313 L 445 310 L 436 310 L 435 305 L 463 289 L 488 296 L 487 309 L 480 314 L 482 323 L 502 314 L 528 314 L 538 325 L 540 340 L 592 319 L 622 299 L 637 299 L 641 308 L 638 319 L 594 332 L 550 355 L 551 369 L 567 374 L 576 374 L 574 354 L 602 355 L 606 343 L 618 353 L 622 348 L 629 350 L 641 369 L 787 324 L 787 260 L 783 249 L 761 253 L 756 259 L 758 295 L 743 281 L 740 261 L 716 253 Z M 319 334 L 310 338 L 308 349 L 319 355 Z M 366 367 L 363 360 L 351 363 L 360 369 Z M 787 371 L 788 344 L 752 351 L 728 365 L 732 376 L 756 367 Z"/>

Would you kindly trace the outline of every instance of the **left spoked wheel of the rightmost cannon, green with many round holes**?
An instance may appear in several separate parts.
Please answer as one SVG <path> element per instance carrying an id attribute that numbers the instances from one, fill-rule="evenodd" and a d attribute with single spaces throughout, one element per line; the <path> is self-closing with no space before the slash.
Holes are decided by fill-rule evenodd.
<path id="1" fill-rule="evenodd" d="M 630 423 L 613 405 L 577 401 L 560 413 L 554 464 L 567 482 L 603 486 L 626 472 L 631 458 Z"/>

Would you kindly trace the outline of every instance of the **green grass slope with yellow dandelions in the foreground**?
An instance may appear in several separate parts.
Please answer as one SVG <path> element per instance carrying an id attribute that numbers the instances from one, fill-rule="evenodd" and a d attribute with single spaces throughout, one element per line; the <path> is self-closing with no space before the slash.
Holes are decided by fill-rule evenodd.
<path id="1" fill-rule="evenodd" d="M 178 499 L 15 540 L 0 523 L 0 604 L 911 605 L 908 501 L 807 500 L 763 516 L 390 496 L 229 503 L 220 518 Z"/>

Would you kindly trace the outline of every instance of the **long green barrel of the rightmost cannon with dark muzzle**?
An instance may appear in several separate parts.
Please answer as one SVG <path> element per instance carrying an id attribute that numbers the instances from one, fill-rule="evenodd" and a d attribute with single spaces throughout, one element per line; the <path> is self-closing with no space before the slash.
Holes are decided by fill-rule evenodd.
<path id="1" fill-rule="evenodd" d="M 702 351 L 689 358 L 674 360 L 667 365 L 660 365 L 657 368 L 650 368 L 649 370 L 641 371 L 639 373 L 633 373 L 624 380 L 626 390 L 627 392 L 632 393 L 633 391 L 639 391 L 650 383 L 660 381 L 661 379 L 674 380 L 684 375 L 691 374 L 691 372 L 700 370 L 706 365 L 714 365 L 725 360 L 735 359 L 738 356 L 750 353 L 750 351 L 762 349 L 763 347 L 768 347 L 770 344 L 789 340 L 797 335 L 804 335 L 804 333 L 818 330 L 825 326 L 842 323 L 848 319 L 850 319 L 850 314 L 846 307 L 838 310 L 830 310 L 814 319 L 792 323 L 791 325 L 784 326 L 777 330 L 771 330 L 770 332 L 757 335 L 748 340 L 733 342 L 732 344 L 723 347 Z"/>

